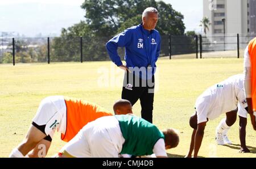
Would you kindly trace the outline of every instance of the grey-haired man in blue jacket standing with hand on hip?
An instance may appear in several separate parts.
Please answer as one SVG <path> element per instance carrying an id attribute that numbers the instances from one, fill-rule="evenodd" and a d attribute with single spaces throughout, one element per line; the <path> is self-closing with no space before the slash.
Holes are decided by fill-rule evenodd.
<path id="1" fill-rule="evenodd" d="M 114 36 L 106 44 L 109 56 L 115 65 L 125 70 L 122 88 L 122 99 L 129 100 L 134 105 L 141 101 L 141 116 L 152 123 L 154 102 L 154 87 L 156 71 L 155 62 L 160 54 L 161 37 L 155 30 L 158 22 L 158 10 L 148 7 L 143 11 L 142 23 L 127 28 Z M 118 56 L 118 47 L 125 47 L 123 65 Z"/>

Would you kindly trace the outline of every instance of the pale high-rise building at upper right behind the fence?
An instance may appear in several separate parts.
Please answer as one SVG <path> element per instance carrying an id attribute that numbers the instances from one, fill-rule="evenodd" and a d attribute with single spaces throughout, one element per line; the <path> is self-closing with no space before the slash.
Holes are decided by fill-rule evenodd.
<path id="1" fill-rule="evenodd" d="M 256 0 L 203 0 L 203 10 L 211 23 L 208 34 L 256 33 Z"/>

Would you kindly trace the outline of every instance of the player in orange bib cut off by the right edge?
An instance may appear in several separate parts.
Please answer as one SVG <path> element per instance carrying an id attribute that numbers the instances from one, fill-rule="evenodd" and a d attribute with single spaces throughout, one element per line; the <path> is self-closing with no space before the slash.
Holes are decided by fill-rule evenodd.
<path id="1" fill-rule="evenodd" d="M 251 124 L 254 130 L 256 130 L 256 37 L 250 41 L 245 49 L 244 69 L 246 100 Z"/>

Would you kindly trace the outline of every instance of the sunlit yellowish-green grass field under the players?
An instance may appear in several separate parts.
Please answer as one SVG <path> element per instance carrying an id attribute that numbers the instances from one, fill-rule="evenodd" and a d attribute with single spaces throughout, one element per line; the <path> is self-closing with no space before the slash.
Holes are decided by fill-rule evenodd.
<path id="1" fill-rule="evenodd" d="M 168 150 L 169 157 L 184 157 L 188 151 L 192 133 L 188 120 L 197 96 L 212 84 L 242 73 L 242 62 L 237 58 L 158 61 L 153 122 L 160 129 L 171 127 L 180 131 L 179 146 Z M 121 96 L 123 72 L 111 62 L 0 65 L 0 72 L 0 157 L 8 157 L 23 140 L 40 100 L 46 96 L 72 96 L 96 102 L 109 110 Z M 133 111 L 140 116 L 139 102 Z M 199 156 L 255 158 L 256 133 L 249 120 L 246 142 L 251 153 L 238 153 L 238 120 L 229 132 L 233 145 L 216 144 L 214 131 L 224 116 L 208 122 Z M 47 157 L 64 144 L 60 134 L 55 134 Z"/>

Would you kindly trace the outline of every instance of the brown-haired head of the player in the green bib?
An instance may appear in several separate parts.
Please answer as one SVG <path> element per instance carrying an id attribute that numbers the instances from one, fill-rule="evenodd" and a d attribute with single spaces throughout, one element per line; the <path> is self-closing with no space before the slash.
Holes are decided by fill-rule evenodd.
<path id="1" fill-rule="evenodd" d="M 164 142 L 166 143 L 166 149 L 177 147 L 180 142 L 179 134 L 175 129 L 166 129 L 162 131 L 164 134 Z"/>

